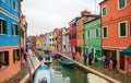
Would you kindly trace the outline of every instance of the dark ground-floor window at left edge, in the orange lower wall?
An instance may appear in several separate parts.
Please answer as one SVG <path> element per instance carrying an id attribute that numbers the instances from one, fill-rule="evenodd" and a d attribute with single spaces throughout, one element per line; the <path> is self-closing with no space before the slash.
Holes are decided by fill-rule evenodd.
<path id="1" fill-rule="evenodd" d="M 9 51 L 0 51 L 0 69 L 9 66 Z"/>

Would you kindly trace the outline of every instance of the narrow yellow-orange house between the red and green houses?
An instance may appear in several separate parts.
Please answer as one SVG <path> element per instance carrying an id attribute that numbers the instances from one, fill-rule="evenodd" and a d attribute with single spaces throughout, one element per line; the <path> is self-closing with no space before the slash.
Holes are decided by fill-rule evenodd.
<path id="1" fill-rule="evenodd" d="M 97 15 L 91 15 L 88 11 L 82 11 L 81 17 L 76 21 L 76 51 L 79 55 L 84 52 L 84 23 L 97 17 Z"/>

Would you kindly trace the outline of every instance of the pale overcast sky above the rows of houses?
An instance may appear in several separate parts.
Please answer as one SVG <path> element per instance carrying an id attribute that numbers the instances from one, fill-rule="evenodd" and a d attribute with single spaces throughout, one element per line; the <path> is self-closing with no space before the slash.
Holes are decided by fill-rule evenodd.
<path id="1" fill-rule="evenodd" d="M 52 32 L 53 28 L 68 26 L 68 23 L 81 11 L 99 12 L 99 2 L 103 0 L 24 0 L 23 14 L 28 23 L 28 35 L 39 35 Z"/>

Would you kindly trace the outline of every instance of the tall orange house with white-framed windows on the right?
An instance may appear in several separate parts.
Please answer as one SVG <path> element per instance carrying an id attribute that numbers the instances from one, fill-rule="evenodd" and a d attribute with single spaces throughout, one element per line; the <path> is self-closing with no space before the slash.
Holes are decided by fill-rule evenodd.
<path id="1" fill-rule="evenodd" d="M 120 54 L 131 45 L 131 0 L 104 0 L 100 10 L 103 55 L 117 59 L 117 69 L 131 74 L 131 55 Z"/>

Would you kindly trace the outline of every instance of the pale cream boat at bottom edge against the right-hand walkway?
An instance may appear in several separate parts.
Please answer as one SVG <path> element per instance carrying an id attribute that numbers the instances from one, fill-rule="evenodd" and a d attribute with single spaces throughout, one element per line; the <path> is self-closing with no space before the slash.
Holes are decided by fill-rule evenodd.
<path id="1" fill-rule="evenodd" d="M 87 81 L 88 81 L 88 83 L 97 83 L 97 82 L 109 83 L 107 80 L 104 80 L 103 78 L 97 76 L 93 73 L 87 73 Z"/>

